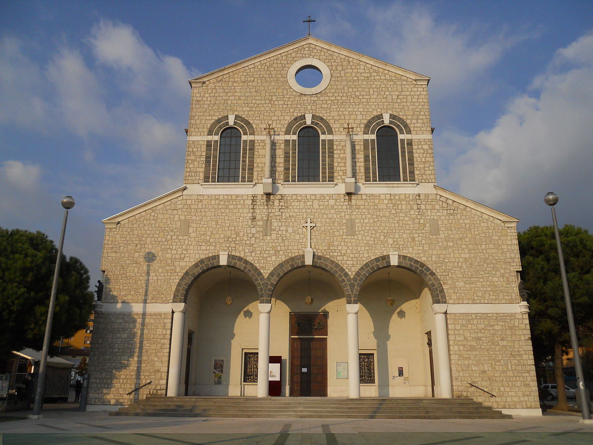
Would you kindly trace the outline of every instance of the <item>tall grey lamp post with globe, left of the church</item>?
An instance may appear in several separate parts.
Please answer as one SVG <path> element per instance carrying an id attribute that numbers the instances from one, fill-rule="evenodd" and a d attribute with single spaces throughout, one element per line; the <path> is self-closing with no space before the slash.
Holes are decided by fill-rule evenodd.
<path id="1" fill-rule="evenodd" d="M 47 351 L 49 350 L 49 339 L 52 334 L 53 309 L 56 306 L 56 291 L 58 290 L 58 275 L 60 273 L 60 263 L 62 262 L 62 246 L 64 245 L 64 235 L 66 233 L 66 221 L 68 221 L 68 210 L 74 207 L 72 196 L 64 196 L 62 207 L 65 208 L 64 221 L 62 222 L 62 234 L 60 235 L 60 244 L 58 246 L 58 258 L 56 258 L 56 269 L 53 272 L 52 294 L 49 297 L 49 309 L 47 310 L 47 323 L 45 325 L 45 336 L 43 337 L 43 349 L 39 363 L 39 374 L 37 375 L 37 386 L 35 389 L 35 403 L 33 405 L 33 414 L 30 418 L 40 418 L 41 405 L 43 402 L 43 393 L 45 392 L 45 371 L 47 365 Z"/>

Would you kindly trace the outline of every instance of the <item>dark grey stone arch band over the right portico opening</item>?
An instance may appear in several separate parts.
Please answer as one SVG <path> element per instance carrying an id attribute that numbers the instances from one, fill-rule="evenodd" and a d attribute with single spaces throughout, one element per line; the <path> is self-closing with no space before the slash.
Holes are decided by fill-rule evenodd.
<path id="1" fill-rule="evenodd" d="M 364 284 L 369 275 L 389 266 L 391 266 L 389 255 L 382 255 L 366 262 L 365 265 L 358 269 L 352 279 L 353 299 L 358 301 L 358 294 L 361 291 L 362 284 Z M 425 263 L 411 256 L 398 255 L 396 267 L 407 269 L 423 279 L 431 292 L 432 304 L 447 303 L 447 297 L 445 296 L 445 290 L 442 287 L 441 280 Z"/>

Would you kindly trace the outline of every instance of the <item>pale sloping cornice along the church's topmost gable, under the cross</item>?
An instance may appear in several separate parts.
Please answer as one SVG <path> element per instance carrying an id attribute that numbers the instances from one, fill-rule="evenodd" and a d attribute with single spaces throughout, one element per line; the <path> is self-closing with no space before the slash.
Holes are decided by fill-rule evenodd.
<path id="1" fill-rule="evenodd" d="M 365 56 L 364 54 L 357 53 L 356 51 L 346 49 L 342 46 L 334 45 L 333 43 L 326 42 L 325 40 L 317 39 L 317 37 L 307 36 L 303 37 L 302 39 L 295 40 L 291 43 L 286 43 L 286 45 L 279 46 L 275 49 L 270 49 L 264 53 L 258 54 L 256 56 L 252 56 L 248 59 L 244 59 L 240 62 L 232 63 L 231 65 L 224 66 L 223 68 L 215 69 L 214 71 L 207 72 L 206 74 L 202 74 L 198 77 L 189 80 L 190 85 L 192 86 L 201 86 L 203 82 L 212 80 L 213 78 L 219 77 L 224 74 L 228 74 L 229 72 L 235 71 L 240 68 L 244 68 L 248 65 L 252 65 L 253 63 L 261 62 L 265 59 L 270 57 L 282 54 L 287 52 L 291 49 L 295 49 L 299 46 L 305 46 L 308 44 L 317 45 L 324 49 L 349 56 L 353 59 L 369 63 L 370 65 L 377 66 L 378 68 L 386 69 L 387 71 L 394 72 L 399 74 L 403 77 L 407 77 L 411 80 L 416 81 L 417 84 L 424 84 L 427 85 L 431 78 L 423 76 L 422 74 L 418 74 L 417 72 L 409 71 L 408 69 L 400 68 L 400 66 L 391 65 L 391 63 L 380 61 L 379 59 L 374 59 L 369 56 Z"/>

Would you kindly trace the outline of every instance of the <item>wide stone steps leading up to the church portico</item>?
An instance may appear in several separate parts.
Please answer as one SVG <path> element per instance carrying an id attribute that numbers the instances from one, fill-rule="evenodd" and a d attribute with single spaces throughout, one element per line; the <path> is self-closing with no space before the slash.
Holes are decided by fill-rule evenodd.
<path id="1" fill-rule="evenodd" d="M 119 416 L 341 418 L 341 419 L 509 419 L 471 399 L 327 397 L 149 396 L 110 412 Z"/>

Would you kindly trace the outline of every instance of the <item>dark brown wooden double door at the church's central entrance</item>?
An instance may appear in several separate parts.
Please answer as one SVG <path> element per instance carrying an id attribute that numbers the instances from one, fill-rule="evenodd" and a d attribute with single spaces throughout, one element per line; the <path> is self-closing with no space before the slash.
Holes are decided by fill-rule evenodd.
<path id="1" fill-rule="evenodd" d="M 291 338 L 291 396 L 327 396 L 327 338 Z"/>

